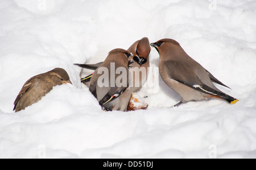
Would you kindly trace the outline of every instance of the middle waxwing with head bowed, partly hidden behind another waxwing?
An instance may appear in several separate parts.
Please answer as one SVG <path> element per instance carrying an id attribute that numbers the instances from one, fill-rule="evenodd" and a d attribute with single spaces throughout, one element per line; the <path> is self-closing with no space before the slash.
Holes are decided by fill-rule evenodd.
<path id="1" fill-rule="evenodd" d="M 144 82 L 147 81 L 148 76 L 148 67 L 150 67 L 150 60 L 149 55 L 151 51 L 150 43 L 148 41 L 148 38 L 142 38 L 141 40 L 138 40 L 137 42 L 133 43 L 129 49 L 127 49 L 128 52 L 136 54 L 131 55 L 129 59 L 133 60 L 134 63 L 130 65 L 130 73 L 133 78 L 133 84 L 130 85 L 131 90 L 133 92 L 137 92 L 141 86 L 144 84 Z M 101 63 L 97 64 L 75 64 L 81 68 L 86 69 L 97 69 L 100 67 Z M 134 68 L 134 69 L 133 69 Z M 81 78 L 82 82 L 89 82 L 90 78 L 92 77 L 92 74 L 89 76 L 86 76 L 84 78 Z"/>

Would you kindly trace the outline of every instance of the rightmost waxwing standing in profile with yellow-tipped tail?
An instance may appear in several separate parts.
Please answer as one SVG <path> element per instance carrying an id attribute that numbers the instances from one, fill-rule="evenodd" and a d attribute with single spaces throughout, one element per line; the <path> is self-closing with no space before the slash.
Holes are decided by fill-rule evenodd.
<path id="1" fill-rule="evenodd" d="M 217 89 L 213 82 L 228 86 L 189 57 L 175 40 L 162 39 L 151 46 L 159 53 L 159 73 L 163 81 L 182 97 L 182 101 L 175 106 L 210 97 L 221 98 L 232 104 L 238 101 Z"/>

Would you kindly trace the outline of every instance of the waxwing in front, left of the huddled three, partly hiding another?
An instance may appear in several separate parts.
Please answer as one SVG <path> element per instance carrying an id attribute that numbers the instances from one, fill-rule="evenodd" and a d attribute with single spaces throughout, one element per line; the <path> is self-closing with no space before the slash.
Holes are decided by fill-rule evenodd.
<path id="1" fill-rule="evenodd" d="M 113 49 L 92 74 L 89 90 L 106 111 L 127 109 L 131 98 L 128 70 L 129 65 L 133 63 L 129 60 L 131 55 L 125 49 Z"/>

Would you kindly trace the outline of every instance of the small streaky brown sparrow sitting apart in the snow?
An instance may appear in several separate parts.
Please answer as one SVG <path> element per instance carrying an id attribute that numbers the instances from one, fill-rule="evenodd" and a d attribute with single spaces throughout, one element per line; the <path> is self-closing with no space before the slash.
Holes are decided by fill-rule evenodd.
<path id="1" fill-rule="evenodd" d="M 52 71 L 30 78 L 16 97 L 13 110 L 15 112 L 24 110 L 26 107 L 40 101 L 54 86 L 67 83 L 72 84 L 68 73 L 62 68 L 55 68 Z"/>

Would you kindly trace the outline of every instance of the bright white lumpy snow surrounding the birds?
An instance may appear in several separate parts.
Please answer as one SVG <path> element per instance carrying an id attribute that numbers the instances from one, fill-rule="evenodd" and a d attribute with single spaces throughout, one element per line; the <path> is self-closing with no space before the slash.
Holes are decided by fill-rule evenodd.
<path id="1" fill-rule="evenodd" d="M 1 158 L 256 158 L 256 1 L 0 1 Z M 114 48 L 177 40 L 232 90 L 235 105 L 180 97 L 159 76 L 148 109 L 105 112 L 73 63 L 97 63 Z M 152 49 L 151 65 L 159 55 Z M 26 110 L 13 102 L 24 82 L 64 68 L 56 86 Z M 158 79 L 158 74 L 155 74 Z"/>

